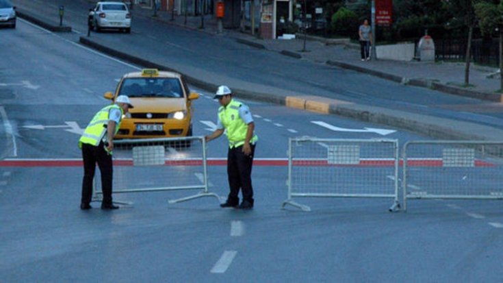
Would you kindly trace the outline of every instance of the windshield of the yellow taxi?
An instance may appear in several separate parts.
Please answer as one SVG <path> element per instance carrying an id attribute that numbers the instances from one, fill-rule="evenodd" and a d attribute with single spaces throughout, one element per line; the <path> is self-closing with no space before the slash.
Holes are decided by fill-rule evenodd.
<path id="1" fill-rule="evenodd" d="M 175 77 L 135 77 L 122 81 L 118 95 L 179 98 L 183 97 L 183 91 Z"/>

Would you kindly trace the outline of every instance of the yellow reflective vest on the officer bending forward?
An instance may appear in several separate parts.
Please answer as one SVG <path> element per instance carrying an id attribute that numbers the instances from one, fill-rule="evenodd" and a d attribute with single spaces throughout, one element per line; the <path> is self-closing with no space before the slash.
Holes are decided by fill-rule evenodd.
<path id="1" fill-rule="evenodd" d="M 95 147 L 99 145 L 99 143 L 103 139 L 103 136 L 105 136 L 105 133 L 107 132 L 109 112 L 113 108 L 119 109 L 121 114 L 121 119 L 118 125 L 116 125 L 115 127 L 114 134 L 117 134 L 120 128 L 120 122 L 122 121 L 122 114 L 124 114 L 124 110 L 122 110 L 122 108 L 120 108 L 120 106 L 118 106 L 117 104 L 112 104 L 104 107 L 96 114 L 94 114 L 94 117 L 89 122 L 89 125 L 86 127 L 86 130 L 84 130 L 82 136 L 79 139 L 79 147 L 81 147 L 83 143 L 94 145 Z"/>

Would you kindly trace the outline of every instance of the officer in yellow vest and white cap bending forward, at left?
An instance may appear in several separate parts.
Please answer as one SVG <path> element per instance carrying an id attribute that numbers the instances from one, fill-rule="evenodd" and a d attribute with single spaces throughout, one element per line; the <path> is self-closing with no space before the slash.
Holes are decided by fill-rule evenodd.
<path id="1" fill-rule="evenodd" d="M 122 115 L 127 113 L 129 108 L 133 108 L 129 97 L 119 95 L 114 104 L 106 106 L 94 115 L 80 137 L 79 147 L 82 149 L 84 168 L 82 198 L 80 202 L 81 210 L 91 208 L 92 180 L 94 179 L 96 163 L 98 163 L 101 173 L 101 187 L 103 190 L 101 209 L 111 210 L 119 208 L 112 203 L 113 139 L 120 128 Z"/>

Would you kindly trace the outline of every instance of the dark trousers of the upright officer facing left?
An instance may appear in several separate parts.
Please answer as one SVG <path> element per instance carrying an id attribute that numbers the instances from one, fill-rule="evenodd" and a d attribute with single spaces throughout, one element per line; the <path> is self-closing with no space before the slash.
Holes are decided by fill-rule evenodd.
<path id="1" fill-rule="evenodd" d="M 255 145 L 251 145 L 250 156 L 245 156 L 242 152 L 243 146 L 229 148 L 227 153 L 227 175 L 229 177 L 228 201 L 237 203 L 238 194 L 242 189 L 243 200 L 250 201 L 253 204 L 253 187 L 251 182 L 251 169 L 253 165 L 253 156 L 255 154 Z"/>

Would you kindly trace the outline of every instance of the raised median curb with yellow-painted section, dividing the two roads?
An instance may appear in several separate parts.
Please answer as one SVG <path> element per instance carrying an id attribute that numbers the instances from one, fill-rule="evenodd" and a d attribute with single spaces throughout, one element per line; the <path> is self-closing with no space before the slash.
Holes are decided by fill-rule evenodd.
<path id="1" fill-rule="evenodd" d="M 105 47 L 97 42 L 94 42 L 86 37 L 81 36 L 79 41 L 83 45 L 88 45 L 96 50 L 107 53 L 111 56 L 122 58 L 144 67 L 157 68 L 161 70 L 175 71 L 168 66 L 163 66 L 144 60 L 136 56 L 131 56 L 127 53 Z M 181 73 L 189 84 L 198 88 L 214 91 L 218 86 L 209 82 L 204 82 L 201 79 L 196 79 L 190 75 Z M 420 134 L 425 134 L 433 138 L 443 139 L 470 139 L 470 140 L 497 140 L 503 136 L 503 131 L 493 127 L 478 125 L 469 122 L 455 121 L 456 125 L 452 125 L 452 119 L 443 119 L 435 116 L 425 116 L 422 114 L 413 114 L 409 112 L 402 112 L 400 110 L 389 110 L 386 108 L 379 108 L 375 106 L 362 106 L 348 101 L 339 101 L 328 97 L 317 96 L 286 96 L 271 95 L 266 93 L 256 93 L 250 90 L 243 90 L 233 88 L 236 95 L 246 99 L 254 99 L 257 101 L 265 101 L 269 103 L 279 104 L 290 108 L 297 108 L 301 110 L 308 110 L 311 112 L 318 112 L 324 114 L 337 114 L 339 116 L 357 119 L 370 123 L 378 123 L 381 125 L 388 125 L 402 130 L 411 130 Z M 430 122 L 428 122 L 430 120 Z M 460 124 L 461 123 L 461 124 Z M 469 129 L 480 127 L 487 127 L 487 136 L 478 136 L 476 134 L 467 134 L 475 131 Z M 465 132 L 461 132 L 465 130 Z"/>

